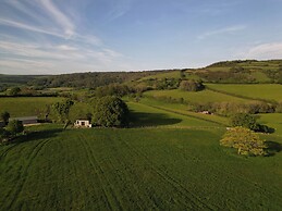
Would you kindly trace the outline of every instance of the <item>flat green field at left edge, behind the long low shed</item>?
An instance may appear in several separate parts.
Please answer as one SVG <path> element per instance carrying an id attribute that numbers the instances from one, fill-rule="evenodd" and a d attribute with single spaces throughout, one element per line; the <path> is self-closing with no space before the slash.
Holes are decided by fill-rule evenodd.
<path id="1" fill-rule="evenodd" d="M 57 97 L 16 97 L 0 98 L 0 112 L 8 111 L 11 117 L 38 115 L 46 104 L 58 102 Z"/>

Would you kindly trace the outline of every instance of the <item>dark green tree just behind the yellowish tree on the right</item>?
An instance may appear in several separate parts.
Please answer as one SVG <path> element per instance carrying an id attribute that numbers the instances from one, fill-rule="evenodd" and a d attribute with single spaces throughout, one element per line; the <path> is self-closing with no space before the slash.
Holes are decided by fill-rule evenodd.
<path id="1" fill-rule="evenodd" d="M 252 131 L 258 131 L 257 119 L 248 113 L 236 113 L 231 117 L 232 126 L 242 126 Z"/>

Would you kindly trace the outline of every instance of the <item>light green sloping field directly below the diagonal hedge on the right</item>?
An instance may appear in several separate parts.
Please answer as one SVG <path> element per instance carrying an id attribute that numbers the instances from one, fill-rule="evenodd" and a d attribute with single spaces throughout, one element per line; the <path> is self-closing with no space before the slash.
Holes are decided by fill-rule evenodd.
<path id="1" fill-rule="evenodd" d="M 188 102 L 206 103 L 206 102 L 246 102 L 246 99 L 229 96 L 225 94 L 216 92 L 212 90 L 203 91 L 183 91 L 180 89 L 173 90 L 152 90 L 146 91 L 145 96 L 149 97 L 172 97 L 172 98 L 183 98 Z"/>

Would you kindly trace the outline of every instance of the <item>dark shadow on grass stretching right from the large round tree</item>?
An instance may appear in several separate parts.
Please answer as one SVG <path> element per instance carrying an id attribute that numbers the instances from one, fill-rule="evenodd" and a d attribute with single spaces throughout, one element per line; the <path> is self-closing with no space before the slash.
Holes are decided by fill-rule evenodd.
<path id="1" fill-rule="evenodd" d="M 163 113 L 131 112 L 131 127 L 173 125 L 182 122 Z"/>

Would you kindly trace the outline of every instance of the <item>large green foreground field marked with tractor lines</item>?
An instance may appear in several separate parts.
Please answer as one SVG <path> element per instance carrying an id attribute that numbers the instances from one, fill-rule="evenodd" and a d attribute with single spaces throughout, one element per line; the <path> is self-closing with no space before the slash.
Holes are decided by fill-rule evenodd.
<path id="1" fill-rule="evenodd" d="M 36 131 L 0 146 L 0 210 L 282 207 L 282 153 L 238 157 L 222 129 Z"/>

